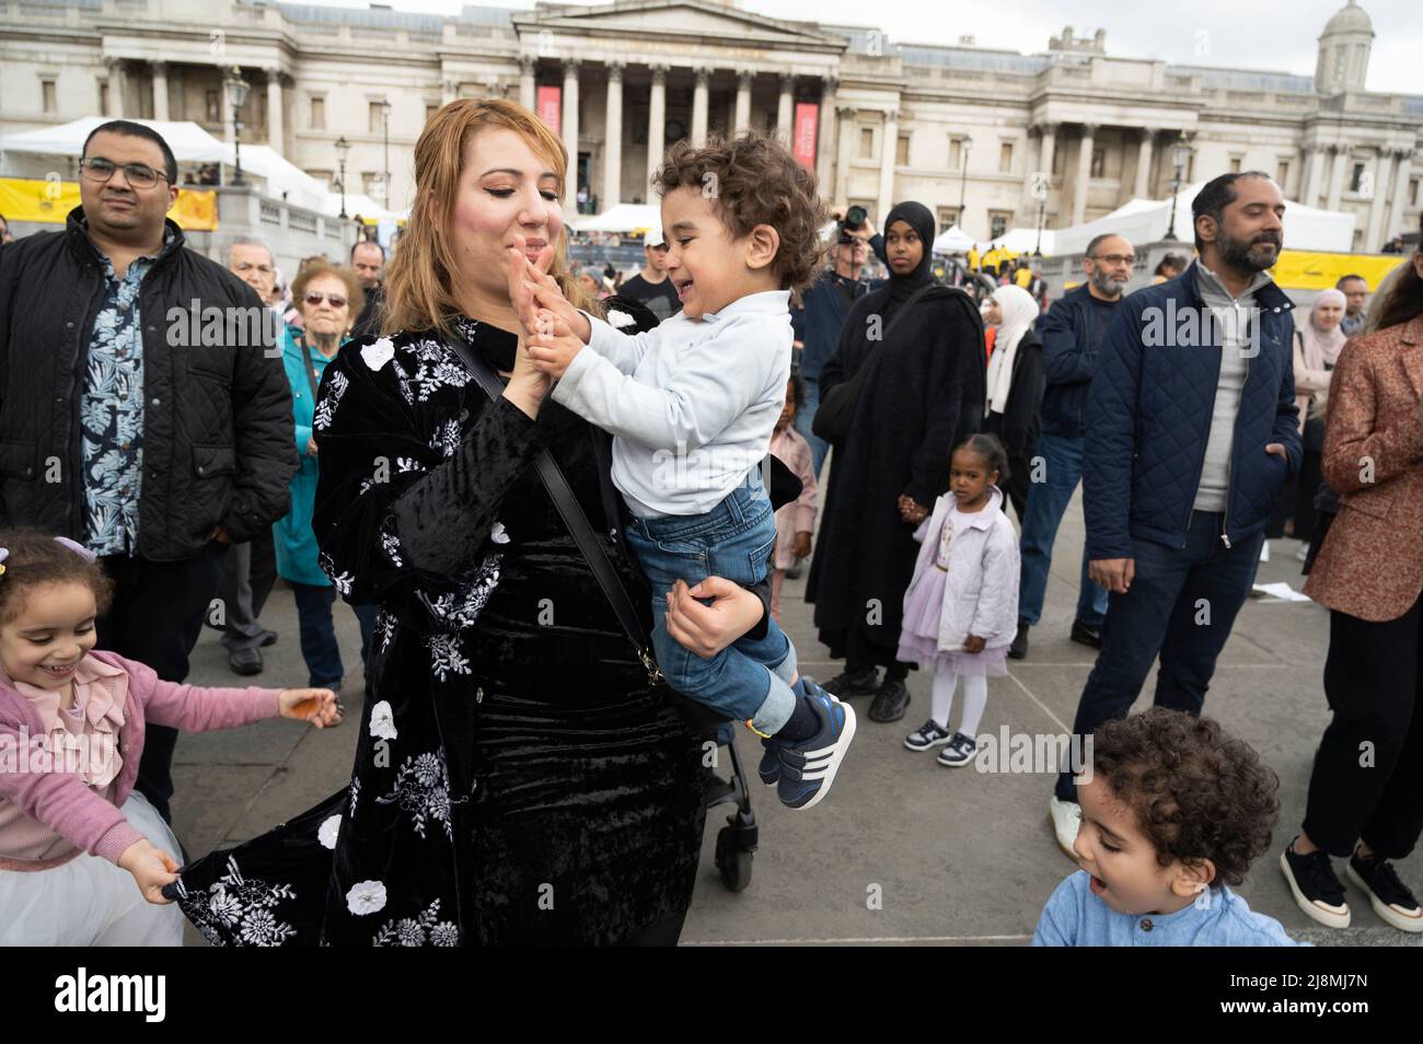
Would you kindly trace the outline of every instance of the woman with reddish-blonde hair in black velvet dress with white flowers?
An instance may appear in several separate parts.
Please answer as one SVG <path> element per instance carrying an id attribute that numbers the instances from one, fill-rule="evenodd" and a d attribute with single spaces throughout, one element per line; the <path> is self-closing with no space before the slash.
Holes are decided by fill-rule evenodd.
<path id="1" fill-rule="evenodd" d="M 601 434 L 548 397 L 509 304 L 522 239 L 531 256 L 549 245 L 541 263 L 596 307 L 552 252 L 565 165 L 542 121 L 502 100 L 454 101 L 420 137 L 387 333 L 343 347 L 313 421 L 322 566 L 349 602 L 381 607 L 349 799 L 243 846 L 222 888 L 189 895 L 209 939 L 238 940 L 238 917 L 305 936 L 314 916 L 333 946 L 677 940 L 704 737 L 649 683 L 532 467 L 548 448 L 650 627 L 646 583 L 602 536 Z M 499 398 L 453 337 L 508 378 Z M 679 585 L 669 630 L 710 654 L 763 619 L 761 596 L 713 577 Z M 272 869 L 282 838 L 309 851 L 317 826 L 324 888 L 305 856 Z M 253 915 L 260 896 L 269 913 Z"/>

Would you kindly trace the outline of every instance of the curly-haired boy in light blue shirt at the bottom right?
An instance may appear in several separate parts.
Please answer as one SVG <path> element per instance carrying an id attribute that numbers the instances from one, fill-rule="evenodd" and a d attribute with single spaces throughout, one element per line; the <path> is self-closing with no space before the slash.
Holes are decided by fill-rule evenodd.
<path id="1" fill-rule="evenodd" d="M 1279 778 L 1211 718 L 1153 707 L 1091 737 L 1081 869 L 1033 946 L 1296 946 L 1228 885 L 1269 848 Z"/>

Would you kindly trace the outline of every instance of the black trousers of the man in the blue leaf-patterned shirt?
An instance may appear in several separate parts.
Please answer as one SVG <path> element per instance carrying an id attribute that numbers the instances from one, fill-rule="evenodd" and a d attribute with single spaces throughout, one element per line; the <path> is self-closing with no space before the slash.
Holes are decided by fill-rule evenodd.
<path id="1" fill-rule="evenodd" d="M 98 647 L 152 667 L 164 681 L 188 677 L 188 656 L 198 644 L 208 604 L 222 579 L 228 545 L 209 543 L 184 562 L 149 562 L 128 555 L 105 555 L 104 570 L 114 580 L 114 603 L 97 624 Z M 149 723 L 138 764 L 138 792 L 172 822 L 172 760 L 178 730 Z"/>

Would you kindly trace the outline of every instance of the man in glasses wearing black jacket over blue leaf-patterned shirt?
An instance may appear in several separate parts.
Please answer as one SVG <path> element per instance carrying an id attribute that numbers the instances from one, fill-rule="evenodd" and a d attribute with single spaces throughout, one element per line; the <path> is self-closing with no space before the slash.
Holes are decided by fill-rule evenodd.
<path id="1" fill-rule="evenodd" d="M 98 646 L 181 683 L 228 545 L 286 513 L 297 457 L 265 304 L 184 246 L 176 178 L 158 132 L 101 124 L 65 229 L 0 249 L 0 525 L 100 555 Z M 176 738 L 149 723 L 138 769 L 164 819 Z"/>

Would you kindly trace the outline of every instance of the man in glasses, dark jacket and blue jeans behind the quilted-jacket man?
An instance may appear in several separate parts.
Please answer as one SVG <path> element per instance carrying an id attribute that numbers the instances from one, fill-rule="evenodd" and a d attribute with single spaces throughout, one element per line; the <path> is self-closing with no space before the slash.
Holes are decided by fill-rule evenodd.
<path id="1" fill-rule="evenodd" d="M 1043 317 L 1042 431 L 1037 455 L 1042 474 L 1027 486 L 1027 508 L 1019 536 L 1022 573 L 1017 596 L 1017 634 L 1007 654 L 1027 656 L 1027 632 L 1043 616 L 1047 570 L 1053 563 L 1057 526 L 1081 481 L 1081 454 L 1087 434 L 1087 388 L 1107 324 L 1116 316 L 1121 293 L 1131 282 L 1137 259 L 1121 236 L 1104 235 L 1087 243 L 1083 270 L 1087 280 L 1063 294 Z M 1107 592 L 1087 575 L 1083 548 L 1077 612 L 1069 637 L 1101 649 L 1101 623 L 1107 616 Z"/>

